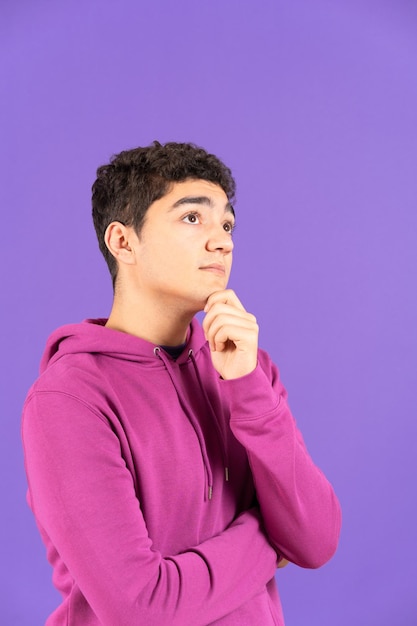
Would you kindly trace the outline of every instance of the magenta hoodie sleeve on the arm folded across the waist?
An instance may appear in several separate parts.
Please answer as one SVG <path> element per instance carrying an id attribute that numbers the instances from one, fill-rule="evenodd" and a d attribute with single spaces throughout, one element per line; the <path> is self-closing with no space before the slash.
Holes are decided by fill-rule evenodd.
<path id="1" fill-rule="evenodd" d="M 36 392 L 23 415 L 29 501 L 38 524 L 103 626 L 203 625 L 259 594 L 277 555 L 257 509 L 168 557 L 148 536 L 108 422 L 78 399 Z"/>

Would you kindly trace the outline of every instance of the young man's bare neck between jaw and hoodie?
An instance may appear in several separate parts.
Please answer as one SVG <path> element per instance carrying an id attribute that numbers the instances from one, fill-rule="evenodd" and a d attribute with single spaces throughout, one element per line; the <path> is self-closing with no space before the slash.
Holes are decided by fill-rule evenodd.
<path id="1" fill-rule="evenodd" d="M 195 312 L 179 311 L 167 302 L 146 302 L 145 297 L 115 294 L 106 326 L 156 345 L 184 343 Z"/>

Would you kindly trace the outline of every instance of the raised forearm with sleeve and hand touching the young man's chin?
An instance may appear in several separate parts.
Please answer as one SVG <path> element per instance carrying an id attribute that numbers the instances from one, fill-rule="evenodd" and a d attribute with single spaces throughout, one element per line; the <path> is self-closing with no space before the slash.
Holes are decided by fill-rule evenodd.
<path id="1" fill-rule="evenodd" d="M 204 310 L 212 363 L 229 399 L 230 427 L 248 453 L 269 538 L 290 561 L 319 567 L 339 537 L 333 489 L 306 450 L 276 367 L 258 351 L 256 318 L 230 289 L 212 294 Z"/>

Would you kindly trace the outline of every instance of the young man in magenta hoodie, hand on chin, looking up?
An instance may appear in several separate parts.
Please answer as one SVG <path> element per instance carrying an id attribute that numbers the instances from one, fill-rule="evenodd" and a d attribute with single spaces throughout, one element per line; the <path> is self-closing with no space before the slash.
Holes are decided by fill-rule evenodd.
<path id="1" fill-rule="evenodd" d="M 276 567 L 325 563 L 340 509 L 226 289 L 231 172 L 155 142 L 97 175 L 113 307 L 52 334 L 24 408 L 28 499 L 63 596 L 47 624 L 282 625 Z"/>

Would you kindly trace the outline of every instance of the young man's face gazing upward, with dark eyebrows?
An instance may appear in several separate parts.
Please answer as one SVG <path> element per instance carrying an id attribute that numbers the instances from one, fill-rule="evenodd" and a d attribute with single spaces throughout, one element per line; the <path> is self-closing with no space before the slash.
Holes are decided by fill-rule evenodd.
<path id="1" fill-rule="evenodd" d="M 233 209 L 223 189 L 205 180 L 174 183 L 147 210 L 135 243 L 141 296 L 196 312 L 225 289 L 232 267 Z"/>

